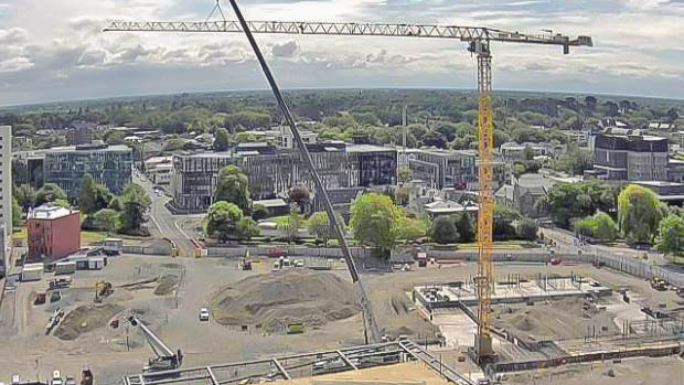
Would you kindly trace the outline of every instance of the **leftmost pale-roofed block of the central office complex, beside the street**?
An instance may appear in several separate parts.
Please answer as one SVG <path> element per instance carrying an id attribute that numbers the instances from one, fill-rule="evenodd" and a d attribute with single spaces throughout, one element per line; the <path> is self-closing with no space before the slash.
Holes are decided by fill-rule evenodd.
<path id="1" fill-rule="evenodd" d="M 235 163 L 229 153 L 195 153 L 173 156 L 171 207 L 179 212 L 206 210 L 214 197 L 218 172 Z"/>

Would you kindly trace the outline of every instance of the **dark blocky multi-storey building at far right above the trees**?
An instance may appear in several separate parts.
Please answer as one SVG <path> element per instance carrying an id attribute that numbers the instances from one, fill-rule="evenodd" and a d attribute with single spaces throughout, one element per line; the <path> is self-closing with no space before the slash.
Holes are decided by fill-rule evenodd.
<path id="1" fill-rule="evenodd" d="M 587 175 L 608 181 L 666 181 L 667 139 L 599 133 L 594 143 L 594 170 Z"/>

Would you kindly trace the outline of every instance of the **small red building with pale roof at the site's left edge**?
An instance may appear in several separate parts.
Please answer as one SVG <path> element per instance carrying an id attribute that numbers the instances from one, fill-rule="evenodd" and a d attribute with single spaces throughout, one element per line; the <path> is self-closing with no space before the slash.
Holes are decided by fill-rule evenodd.
<path id="1" fill-rule="evenodd" d="M 42 205 L 29 212 L 26 232 L 30 261 L 64 258 L 81 248 L 81 214 Z"/>

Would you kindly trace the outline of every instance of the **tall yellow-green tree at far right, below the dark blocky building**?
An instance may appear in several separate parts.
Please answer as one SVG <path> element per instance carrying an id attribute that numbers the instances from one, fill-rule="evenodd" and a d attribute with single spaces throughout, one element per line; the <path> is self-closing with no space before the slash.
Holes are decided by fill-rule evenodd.
<path id="1" fill-rule="evenodd" d="M 665 208 L 649 189 L 628 185 L 618 196 L 618 223 L 629 242 L 651 243 Z"/>

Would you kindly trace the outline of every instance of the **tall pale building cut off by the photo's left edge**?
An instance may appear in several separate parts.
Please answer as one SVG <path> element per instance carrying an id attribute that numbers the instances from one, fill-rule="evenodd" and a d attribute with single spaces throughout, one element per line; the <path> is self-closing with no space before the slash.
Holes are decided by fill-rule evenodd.
<path id="1" fill-rule="evenodd" d="M 3 247 L 12 235 L 12 127 L 0 126 L 0 224 L 3 224 Z M 6 252 L 9 252 L 6 250 Z M 6 253 L 7 254 L 7 253 Z"/>

